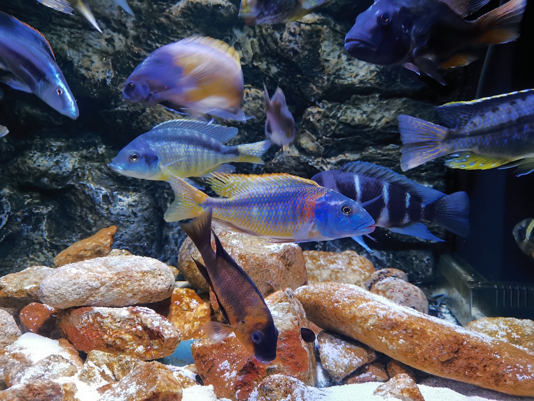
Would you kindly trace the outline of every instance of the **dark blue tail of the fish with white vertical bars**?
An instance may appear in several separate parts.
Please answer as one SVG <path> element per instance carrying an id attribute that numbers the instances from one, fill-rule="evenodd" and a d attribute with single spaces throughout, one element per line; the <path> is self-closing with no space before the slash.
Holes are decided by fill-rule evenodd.
<path id="1" fill-rule="evenodd" d="M 434 218 L 429 220 L 461 237 L 469 235 L 469 197 L 466 192 L 454 192 L 429 206 L 434 209 Z"/>

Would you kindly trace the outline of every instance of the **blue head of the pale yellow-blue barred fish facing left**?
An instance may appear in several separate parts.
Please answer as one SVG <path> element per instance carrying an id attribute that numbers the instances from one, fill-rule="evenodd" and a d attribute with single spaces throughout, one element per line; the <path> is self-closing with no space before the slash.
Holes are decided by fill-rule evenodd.
<path id="1" fill-rule="evenodd" d="M 158 162 L 158 155 L 141 135 L 124 146 L 109 164 L 109 167 L 113 171 L 129 177 L 158 180 L 160 172 Z"/>

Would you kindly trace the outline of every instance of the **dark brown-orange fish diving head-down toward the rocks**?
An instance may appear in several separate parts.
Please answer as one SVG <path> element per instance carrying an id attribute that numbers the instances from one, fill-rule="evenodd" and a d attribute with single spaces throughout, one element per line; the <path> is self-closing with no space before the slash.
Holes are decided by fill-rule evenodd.
<path id="1" fill-rule="evenodd" d="M 193 259 L 200 273 L 215 293 L 226 323 L 209 322 L 202 329 L 214 341 L 223 341 L 231 333 L 264 364 L 276 359 L 278 329 L 260 290 L 245 271 L 224 250 L 215 232 L 216 251 L 211 248 L 211 210 L 191 223 L 180 224 L 197 246 L 204 264 Z"/>

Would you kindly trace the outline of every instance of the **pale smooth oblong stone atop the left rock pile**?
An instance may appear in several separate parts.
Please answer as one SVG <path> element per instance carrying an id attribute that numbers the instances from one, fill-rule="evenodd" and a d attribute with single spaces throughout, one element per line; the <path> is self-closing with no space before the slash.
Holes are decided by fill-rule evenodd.
<path id="1" fill-rule="evenodd" d="M 82 260 L 58 267 L 37 292 L 41 302 L 73 306 L 126 306 L 170 297 L 174 276 L 157 259 L 115 256 Z"/>

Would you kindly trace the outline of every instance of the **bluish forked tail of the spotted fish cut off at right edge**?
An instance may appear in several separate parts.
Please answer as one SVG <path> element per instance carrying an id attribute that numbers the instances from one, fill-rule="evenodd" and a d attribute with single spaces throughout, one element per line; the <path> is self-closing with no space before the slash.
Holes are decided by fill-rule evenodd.
<path id="1" fill-rule="evenodd" d="M 420 166 L 447 154 L 442 141 L 447 128 L 410 115 L 399 115 L 400 140 L 403 143 L 400 168 L 402 171 Z"/>

